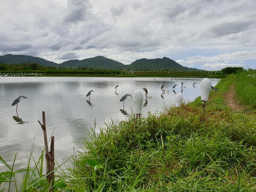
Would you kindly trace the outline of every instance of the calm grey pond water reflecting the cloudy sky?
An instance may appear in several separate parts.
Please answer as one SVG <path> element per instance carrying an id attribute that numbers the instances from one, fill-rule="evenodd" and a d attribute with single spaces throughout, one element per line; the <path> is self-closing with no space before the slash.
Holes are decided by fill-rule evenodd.
<path id="1" fill-rule="evenodd" d="M 46 114 L 48 139 L 53 132 L 55 158 L 70 157 L 78 148 L 81 138 L 86 137 L 90 127 L 105 126 L 104 122 L 126 119 L 132 113 L 132 97 L 123 102 L 124 94 L 132 95 L 136 89 L 147 88 L 148 100 L 144 101 L 143 116 L 148 112 L 162 112 L 174 105 L 176 93 L 183 94 L 186 102 L 200 96 L 202 78 L 102 78 L 102 77 L 0 77 L 0 156 L 12 164 L 26 165 L 32 146 L 37 157 L 44 149 L 42 111 Z M 210 79 L 215 86 L 220 79 Z M 181 82 L 184 88 L 181 89 Z M 192 84 L 196 82 L 195 86 Z M 161 86 L 164 84 L 165 94 Z M 174 89 L 172 86 L 178 84 Z M 119 85 L 116 88 L 115 86 Z M 94 90 L 89 98 L 86 94 Z M 168 92 L 169 90 L 169 92 Z M 25 96 L 16 106 L 12 102 Z M 0 171 L 3 168 L 0 163 Z"/>

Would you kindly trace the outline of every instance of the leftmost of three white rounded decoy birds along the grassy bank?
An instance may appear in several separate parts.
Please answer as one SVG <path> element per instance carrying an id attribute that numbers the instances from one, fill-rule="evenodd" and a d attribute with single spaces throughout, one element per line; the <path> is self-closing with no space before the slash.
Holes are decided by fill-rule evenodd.
<path id="1" fill-rule="evenodd" d="M 142 104 L 144 100 L 144 93 L 143 89 L 137 89 L 134 91 L 132 95 L 132 101 L 134 105 L 134 114 L 136 114 L 136 118 L 140 117 L 142 114 Z"/>

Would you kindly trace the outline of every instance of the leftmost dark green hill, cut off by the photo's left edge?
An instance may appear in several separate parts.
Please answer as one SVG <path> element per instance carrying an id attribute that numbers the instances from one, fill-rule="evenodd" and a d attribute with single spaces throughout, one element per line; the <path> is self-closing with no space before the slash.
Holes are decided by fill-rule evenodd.
<path id="1" fill-rule="evenodd" d="M 43 66 L 54 66 L 58 67 L 59 65 L 57 63 L 45 60 L 40 57 L 33 57 L 28 55 L 13 55 L 13 54 L 6 54 L 3 56 L 0 56 L 0 61 L 6 63 L 6 64 L 20 64 L 24 62 L 33 62 L 37 63 L 39 65 Z"/>

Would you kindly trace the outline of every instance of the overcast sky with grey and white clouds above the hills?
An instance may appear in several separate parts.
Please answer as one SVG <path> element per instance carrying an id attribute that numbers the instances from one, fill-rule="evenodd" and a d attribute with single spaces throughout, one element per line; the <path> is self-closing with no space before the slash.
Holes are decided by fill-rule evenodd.
<path id="1" fill-rule="evenodd" d="M 1 0 L 0 55 L 256 68 L 256 0 Z"/>

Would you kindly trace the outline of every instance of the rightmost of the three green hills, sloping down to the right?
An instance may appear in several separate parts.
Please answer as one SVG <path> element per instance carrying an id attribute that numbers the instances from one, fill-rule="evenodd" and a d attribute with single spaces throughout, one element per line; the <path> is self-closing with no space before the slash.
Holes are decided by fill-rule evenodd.
<path id="1" fill-rule="evenodd" d="M 194 71 L 196 68 L 188 68 L 178 64 L 170 58 L 163 57 L 162 59 L 139 59 L 132 62 L 129 66 L 131 70 L 177 70 L 177 71 Z"/>

